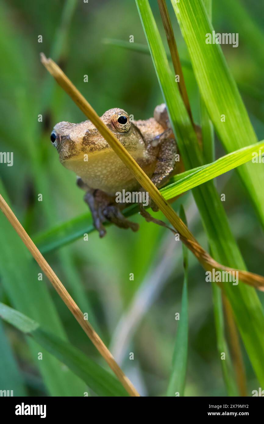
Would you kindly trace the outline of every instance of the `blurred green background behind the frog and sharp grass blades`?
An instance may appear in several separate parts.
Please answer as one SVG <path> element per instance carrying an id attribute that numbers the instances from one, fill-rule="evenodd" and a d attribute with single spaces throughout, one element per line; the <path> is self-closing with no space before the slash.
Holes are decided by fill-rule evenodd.
<path id="1" fill-rule="evenodd" d="M 5 187 L 1 185 L 0 192 L 8 196 L 31 237 L 87 212 L 75 175 L 61 166 L 50 143 L 50 132 L 57 122 L 78 123 L 85 118 L 47 75 L 39 53 L 43 51 L 58 61 L 99 115 L 119 107 L 135 119 L 146 119 L 163 102 L 150 56 L 103 42 L 106 38 L 128 42 L 133 35 L 135 43 L 146 45 L 135 3 L 78 0 L 68 2 L 66 10 L 65 3 L 64 0 L 0 1 L 0 151 L 14 152 L 12 167 L 0 164 Z M 238 48 L 231 45 L 222 48 L 256 133 L 263 139 L 264 64 L 258 55 L 261 47 L 254 44 L 256 38 L 248 30 L 253 25 L 263 37 L 263 5 L 253 0 L 250 5 L 242 0 L 229 3 L 229 0 L 213 0 L 213 25 L 220 33 L 239 33 Z M 152 0 L 150 5 L 166 45 L 157 3 Z M 72 17 L 68 19 L 71 6 Z M 172 11 L 169 2 L 168 7 Z M 172 13 L 171 19 L 180 57 L 187 61 L 183 73 L 195 121 L 199 123 L 197 84 Z M 38 42 L 39 35 L 42 43 Z M 62 44 L 60 40 L 64 40 Z M 83 75 L 88 75 L 88 83 L 83 82 Z M 42 122 L 38 121 L 39 114 Z M 222 154 L 224 151 L 216 139 L 216 156 Z M 249 271 L 263 275 L 263 234 L 241 181 L 232 171 L 218 178 L 216 184 L 219 193 L 225 193 L 225 210 Z M 42 202 L 38 201 L 39 193 Z M 207 248 L 192 195 L 187 193 L 175 202 L 175 210 L 178 211 L 181 203 L 189 228 Z M 157 216 L 162 217 L 160 212 Z M 80 239 L 46 254 L 45 258 L 83 312 L 89 312 L 89 320 L 138 391 L 145 396 L 163 396 L 177 330 L 175 313 L 181 310 L 181 245 L 171 240 L 167 230 L 145 223 L 137 215 L 132 219 L 140 223 L 137 233 L 109 226 L 103 240 L 93 232 L 88 242 Z M 31 290 L 36 290 L 36 296 L 40 297 L 39 321 L 45 325 L 49 310 L 42 302 L 38 286 L 47 285 L 70 342 L 103 365 L 50 282 L 45 277 L 43 282 L 38 281 L 38 268 L 3 217 L 0 231 L 0 254 L 9 252 L 10 259 L 8 266 L 0 260 L 0 300 L 37 320 L 30 307 L 34 300 Z M 189 359 L 185 395 L 225 396 L 211 287 L 191 255 L 189 262 Z M 133 281 L 130 273 L 134 274 Z M 23 291 L 22 304 L 19 293 Z M 264 296 L 261 300 L 264 301 Z M 47 322 L 47 328 L 53 330 L 52 324 Z M 5 325 L 4 330 L 7 337 L 1 330 L 2 346 L 11 347 L 13 353 L 8 350 L 8 355 L 13 355 L 17 363 L 12 378 L 18 392 L 23 386 L 30 396 L 49 395 L 25 338 L 11 326 Z M 130 352 L 134 353 L 134 360 L 129 359 Z M 258 388 L 258 382 L 245 352 L 244 359 L 251 393 Z M 1 386 L 3 362 L 0 371 Z"/>

